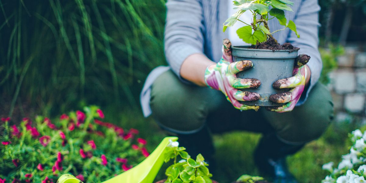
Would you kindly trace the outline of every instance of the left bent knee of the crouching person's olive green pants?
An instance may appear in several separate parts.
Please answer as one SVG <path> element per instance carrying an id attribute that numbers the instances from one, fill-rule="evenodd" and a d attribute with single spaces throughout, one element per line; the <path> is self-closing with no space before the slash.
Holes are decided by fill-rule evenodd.
<path id="1" fill-rule="evenodd" d="M 154 82 L 150 98 L 152 115 L 158 125 L 173 133 L 190 133 L 205 125 L 206 110 L 199 103 L 199 87 L 182 83 L 173 73 Z"/>

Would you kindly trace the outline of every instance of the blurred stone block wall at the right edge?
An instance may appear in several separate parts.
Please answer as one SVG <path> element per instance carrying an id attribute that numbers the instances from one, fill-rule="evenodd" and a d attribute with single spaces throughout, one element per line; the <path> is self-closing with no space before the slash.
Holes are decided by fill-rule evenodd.
<path id="1" fill-rule="evenodd" d="M 338 68 L 330 73 L 336 121 L 355 116 L 366 124 L 366 51 L 360 46 L 345 47 L 345 54 L 337 58 Z"/>

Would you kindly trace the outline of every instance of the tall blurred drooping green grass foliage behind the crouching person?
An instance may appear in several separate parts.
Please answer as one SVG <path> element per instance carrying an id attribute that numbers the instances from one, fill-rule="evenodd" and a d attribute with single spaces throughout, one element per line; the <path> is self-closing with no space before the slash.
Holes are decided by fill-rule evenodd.
<path id="1" fill-rule="evenodd" d="M 72 104 L 137 107 L 147 74 L 165 64 L 164 0 L 0 6 L 0 89 L 10 114 L 20 103 L 52 114 Z"/>

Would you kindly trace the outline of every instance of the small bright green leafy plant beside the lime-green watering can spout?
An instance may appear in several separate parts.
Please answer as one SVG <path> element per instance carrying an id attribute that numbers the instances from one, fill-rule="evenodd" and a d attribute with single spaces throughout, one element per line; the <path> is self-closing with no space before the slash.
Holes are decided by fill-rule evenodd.
<path id="1" fill-rule="evenodd" d="M 173 142 L 174 143 L 174 142 Z M 178 143 L 177 143 L 178 144 Z M 167 168 L 165 183 L 212 183 L 208 164 L 201 154 L 197 155 L 196 160 L 192 159 L 184 147 L 178 145 L 168 146 L 164 154 L 165 163 L 174 160 L 174 163 Z M 177 158 L 182 160 L 177 162 Z"/>

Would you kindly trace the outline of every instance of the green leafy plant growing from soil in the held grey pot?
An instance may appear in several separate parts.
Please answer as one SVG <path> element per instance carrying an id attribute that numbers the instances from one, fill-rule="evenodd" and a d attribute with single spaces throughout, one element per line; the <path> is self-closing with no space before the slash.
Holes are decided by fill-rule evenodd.
<path id="1" fill-rule="evenodd" d="M 227 27 L 231 27 L 239 21 L 247 26 L 239 28 L 236 33 L 240 39 L 252 45 L 255 45 L 257 42 L 265 42 L 268 38 L 273 39 L 277 43 L 277 40 L 273 38 L 272 34 L 285 30 L 286 28 L 290 28 L 300 38 L 300 35 L 296 31 L 295 23 L 292 20 L 287 21 L 285 18 L 284 10 L 292 11 L 288 5 L 294 5 L 293 2 L 288 0 L 236 0 L 233 2 L 236 6 L 234 9 L 238 9 L 238 11 L 224 22 L 224 32 Z M 269 10 L 270 7 L 272 9 Z M 246 11 L 252 13 L 252 22 L 239 20 L 239 17 Z M 268 27 L 268 20 L 273 18 L 276 18 L 284 28 L 271 32 Z"/>

